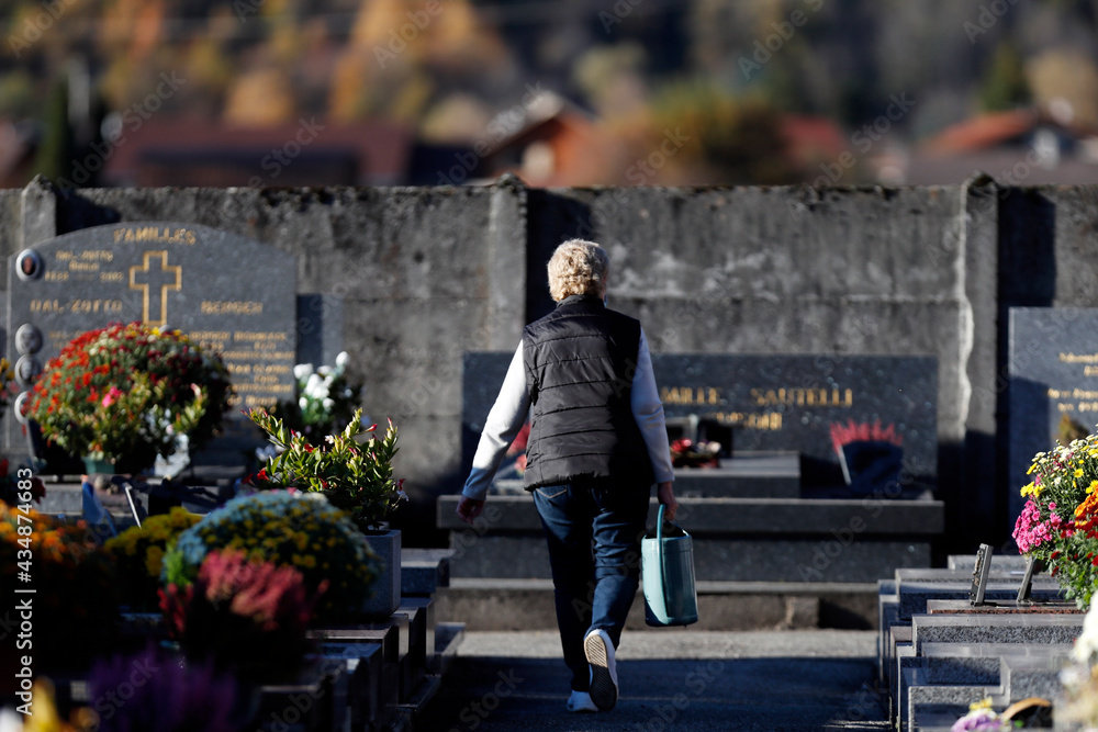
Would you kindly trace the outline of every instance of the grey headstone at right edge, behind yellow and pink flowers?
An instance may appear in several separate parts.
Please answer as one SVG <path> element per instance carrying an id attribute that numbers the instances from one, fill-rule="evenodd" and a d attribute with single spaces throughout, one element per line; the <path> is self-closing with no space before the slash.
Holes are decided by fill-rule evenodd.
<path id="1" fill-rule="evenodd" d="M 1010 526 L 1038 452 L 1056 446 L 1066 417 L 1088 432 L 1098 423 L 1098 308 L 1011 307 L 1009 325 Z"/>

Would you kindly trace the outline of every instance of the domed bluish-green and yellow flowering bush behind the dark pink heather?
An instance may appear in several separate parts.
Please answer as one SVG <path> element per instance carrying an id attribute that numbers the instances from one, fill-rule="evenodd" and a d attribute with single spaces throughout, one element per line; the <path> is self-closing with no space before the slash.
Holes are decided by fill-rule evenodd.
<path id="1" fill-rule="evenodd" d="M 265 491 L 233 498 L 183 531 L 165 555 L 163 581 L 187 587 L 210 552 L 222 549 L 293 567 L 311 593 L 326 587 L 324 618 L 354 613 L 381 571 L 366 536 L 322 496 Z"/>

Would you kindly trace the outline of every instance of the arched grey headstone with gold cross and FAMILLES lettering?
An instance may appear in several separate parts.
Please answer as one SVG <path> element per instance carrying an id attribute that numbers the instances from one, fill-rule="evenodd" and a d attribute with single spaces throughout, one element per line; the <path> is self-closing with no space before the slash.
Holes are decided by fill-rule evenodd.
<path id="1" fill-rule="evenodd" d="M 182 330 L 221 354 L 240 409 L 294 394 L 295 261 L 245 237 L 194 224 L 80 229 L 9 258 L 8 353 L 25 399 L 74 337 L 111 323 Z M 9 448 L 22 447 L 8 419 Z"/>

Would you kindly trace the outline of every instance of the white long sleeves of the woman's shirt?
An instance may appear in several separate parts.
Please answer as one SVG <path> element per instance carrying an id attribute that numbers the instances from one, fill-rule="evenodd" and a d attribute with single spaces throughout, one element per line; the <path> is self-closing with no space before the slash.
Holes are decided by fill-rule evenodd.
<path id="1" fill-rule="evenodd" d="M 656 482 L 673 481 L 675 475 L 671 466 L 668 428 L 663 421 L 663 403 L 660 402 L 660 394 L 656 387 L 652 357 L 648 350 L 643 329 L 640 331 L 640 346 L 637 348 L 637 371 L 632 376 L 629 406 L 645 438 Z M 507 368 L 500 396 L 496 397 L 484 423 L 484 431 L 481 432 L 480 442 L 477 444 L 477 454 L 473 455 L 473 468 L 469 472 L 461 495 L 477 500 L 484 499 L 507 448 L 526 423 L 529 409 L 530 394 L 526 388 L 526 367 L 523 362 L 523 345 L 519 342 Z"/>

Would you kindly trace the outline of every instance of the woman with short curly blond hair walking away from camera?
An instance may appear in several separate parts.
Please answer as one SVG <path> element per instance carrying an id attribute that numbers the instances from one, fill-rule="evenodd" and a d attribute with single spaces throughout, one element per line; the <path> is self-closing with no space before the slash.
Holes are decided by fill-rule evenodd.
<path id="1" fill-rule="evenodd" d="M 674 474 L 640 323 L 606 307 L 609 258 L 564 241 L 549 260 L 557 308 L 526 326 L 484 424 L 458 515 L 472 521 L 530 414 L 525 486 L 549 543 L 570 711 L 617 702 L 614 652 L 639 584 L 652 484 L 675 516 Z"/>

